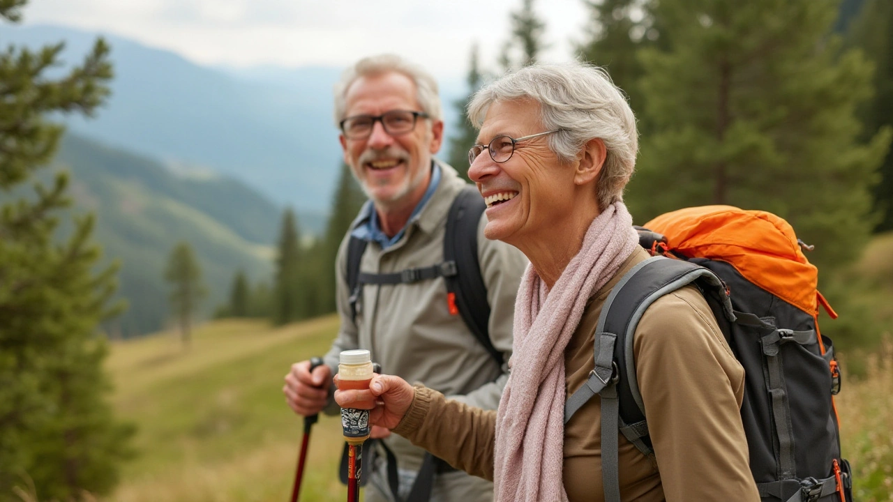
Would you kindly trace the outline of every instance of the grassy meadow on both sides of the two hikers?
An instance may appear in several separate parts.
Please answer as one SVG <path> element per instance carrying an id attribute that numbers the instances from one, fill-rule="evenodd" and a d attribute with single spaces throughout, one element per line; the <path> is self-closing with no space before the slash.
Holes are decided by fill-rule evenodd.
<path id="1" fill-rule="evenodd" d="M 880 236 L 855 268 L 874 281 L 857 298 L 873 325 L 893 320 L 893 234 Z M 822 324 L 825 325 L 822 321 Z M 176 333 L 116 341 L 106 364 L 118 413 L 136 423 L 138 455 L 125 465 L 114 502 L 282 502 L 294 479 L 303 421 L 281 393 L 289 364 L 323 354 L 338 329 L 334 315 L 280 328 L 260 321 L 209 322 L 192 346 Z M 893 501 L 893 337 L 871 352 L 840 355 L 837 397 L 844 456 L 855 472 L 855 500 Z M 875 334 L 875 336 L 877 336 Z M 858 374 L 847 367 L 860 368 Z M 337 479 L 340 423 L 313 427 L 302 500 L 342 500 Z"/>

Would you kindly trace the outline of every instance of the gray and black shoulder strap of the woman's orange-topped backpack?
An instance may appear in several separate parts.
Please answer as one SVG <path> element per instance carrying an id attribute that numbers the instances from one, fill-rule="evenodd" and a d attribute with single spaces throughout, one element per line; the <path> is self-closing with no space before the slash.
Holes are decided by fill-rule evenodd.
<path id="1" fill-rule="evenodd" d="M 725 287 L 714 272 L 682 260 L 655 256 L 636 264 L 613 287 L 598 317 L 595 369 L 564 405 L 564 423 L 599 394 L 602 399 L 602 478 L 605 502 L 620 502 L 617 431 L 651 455 L 642 397 L 633 361 L 633 334 L 647 308 L 659 297 L 700 280 L 717 290 L 726 314 L 734 318 Z M 622 420 L 621 416 L 626 417 Z"/>

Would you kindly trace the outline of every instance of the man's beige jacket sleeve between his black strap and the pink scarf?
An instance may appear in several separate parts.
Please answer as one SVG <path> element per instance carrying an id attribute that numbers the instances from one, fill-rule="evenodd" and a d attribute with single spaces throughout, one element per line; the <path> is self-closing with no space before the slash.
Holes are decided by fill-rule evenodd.
<path id="1" fill-rule="evenodd" d="M 508 360 L 512 356 L 514 299 L 528 260 L 516 247 L 484 237 L 485 226 L 487 216 L 481 214 L 478 224 L 478 263 L 484 285 L 487 287 L 487 301 L 490 304 L 488 322 L 490 341 L 503 355 L 502 373 L 495 381 L 484 384 L 464 396 L 449 397 L 471 406 L 496 409 L 499 397 L 505 388 L 505 381 L 508 380 Z"/>

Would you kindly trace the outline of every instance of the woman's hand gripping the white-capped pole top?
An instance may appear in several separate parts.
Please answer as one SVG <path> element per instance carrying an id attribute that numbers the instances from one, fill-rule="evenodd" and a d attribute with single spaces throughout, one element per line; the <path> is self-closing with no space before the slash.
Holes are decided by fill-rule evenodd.
<path id="1" fill-rule="evenodd" d="M 338 385 L 338 375 L 335 376 Z M 413 404 L 415 389 L 400 377 L 375 375 L 369 390 L 336 390 L 335 402 L 342 408 L 371 410 L 369 423 L 394 429 Z"/>

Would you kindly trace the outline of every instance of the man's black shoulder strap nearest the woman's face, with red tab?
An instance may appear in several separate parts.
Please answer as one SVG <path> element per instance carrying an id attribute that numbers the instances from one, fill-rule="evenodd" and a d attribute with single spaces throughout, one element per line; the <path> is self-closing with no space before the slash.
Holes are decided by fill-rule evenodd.
<path id="1" fill-rule="evenodd" d="M 484 199 L 471 185 L 463 188 L 450 205 L 444 236 L 444 262 L 455 262 L 457 273 L 446 278 L 447 301 L 450 312 L 455 314 L 458 310 L 480 345 L 501 366 L 502 353 L 490 341 L 490 304 L 478 263 L 478 224 L 485 209 Z"/>

